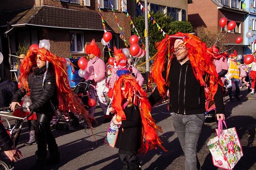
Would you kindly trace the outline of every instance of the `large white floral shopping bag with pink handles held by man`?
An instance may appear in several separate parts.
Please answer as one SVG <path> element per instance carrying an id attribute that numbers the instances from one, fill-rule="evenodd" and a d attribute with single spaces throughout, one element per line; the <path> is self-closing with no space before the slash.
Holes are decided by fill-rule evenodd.
<path id="1" fill-rule="evenodd" d="M 207 146 L 210 149 L 214 166 L 233 169 L 243 156 L 242 146 L 235 127 L 223 130 L 222 122 L 225 124 L 219 119 L 218 131 L 215 129 L 217 136 L 211 138 Z"/>

